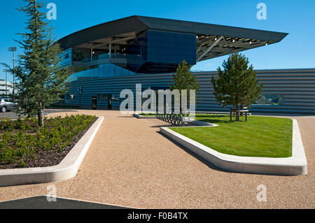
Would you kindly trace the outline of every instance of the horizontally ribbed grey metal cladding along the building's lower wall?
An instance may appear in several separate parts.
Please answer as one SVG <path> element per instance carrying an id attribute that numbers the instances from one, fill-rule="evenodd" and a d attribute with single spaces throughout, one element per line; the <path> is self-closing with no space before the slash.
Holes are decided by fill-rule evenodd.
<path id="1" fill-rule="evenodd" d="M 211 76 L 216 75 L 216 71 L 194 72 L 197 82 L 200 82 L 200 91 L 197 96 L 201 101 L 197 102 L 198 111 L 228 111 L 229 107 L 222 108 L 214 98 L 214 89 L 211 85 Z M 262 88 L 262 94 L 279 94 L 284 96 L 284 103 L 281 106 L 251 106 L 251 112 L 272 112 L 272 113 L 312 113 L 315 114 L 315 87 L 305 87 L 302 89 L 301 82 L 307 76 L 315 77 L 315 69 L 276 69 L 276 70 L 257 70 L 257 77 L 265 84 Z M 286 75 L 292 76 L 295 74 L 295 79 L 290 80 L 290 87 L 279 86 L 272 91 L 267 85 L 274 81 L 274 76 L 282 77 L 286 80 Z M 264 79 L 262 80 L 262 77 Z M 173 84 L 172 73 L 155 73 L 155 74 L 139 74 L 128 75 L 114 78 L 94 78 L 84 79 L 70 82 L 69 91 L 67 94 L 78 94 L 78 87 L 83 86 L 84 94 L 81 97 L 82 104 L 90 106 L 91 97 L 97 94 L 113 94 L 119 98 L 122 89 L 132 89 L 135 91 L 136 84 L 142 84 L 142 89 L 151 87 L 152 89 L 164 89 L 170 84 Z M 305 86 L 309 85 L 303 83 Z M 283 82 L 283 86 L 288 85 L 288 82 Z M 299 87 L 295 87 L 299 86 Z M 77 96 L 74 101 L 66 101 L 66 103 L 78 104 L 80 97 Z M 100 106 L 106 106 L 106 101 L 98 101 Z M 119 101 L 113 101 L 113 107 L 119 107 Z"/>

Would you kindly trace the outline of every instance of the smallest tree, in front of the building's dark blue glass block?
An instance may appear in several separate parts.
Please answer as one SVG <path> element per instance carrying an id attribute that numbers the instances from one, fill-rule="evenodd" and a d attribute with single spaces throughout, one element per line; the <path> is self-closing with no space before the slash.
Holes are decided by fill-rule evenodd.
<path id="1" fill-rule="evenodd" d="M 193 75 L 190 71 L 191 66 L 187 64 L 185 60 L 177 66 L 176 73 L 173 73 L 174 86 L 169 84 L 169 89 L 178 89 L 181 95 L 182 89 L 187 89 L 187 101 L 188 106 L 190 106 L 190 89 L 195 89 L 197 92 L 200 89 L 200 84 L 196 80 L 196 75 Z M 197 95 L 196 95 L 197 100 Z"/>

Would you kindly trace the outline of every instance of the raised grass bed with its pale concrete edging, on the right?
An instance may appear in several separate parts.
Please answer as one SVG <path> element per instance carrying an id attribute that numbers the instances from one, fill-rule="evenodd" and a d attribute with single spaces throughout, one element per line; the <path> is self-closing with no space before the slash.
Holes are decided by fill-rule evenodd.
<path id="1" fill-rule="evenodd" d="M 227 171 L 307 174 L 297 120 L 251 117 L 249 122 L 230 122 L 224 115 L 196 115 L 196 119 L 202 127 L 160 127 L 160 132 Z"/>

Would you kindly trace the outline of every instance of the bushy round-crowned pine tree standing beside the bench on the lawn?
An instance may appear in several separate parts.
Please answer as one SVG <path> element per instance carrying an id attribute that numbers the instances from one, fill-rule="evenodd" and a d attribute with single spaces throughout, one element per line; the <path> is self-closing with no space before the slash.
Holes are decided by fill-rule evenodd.
<path id="1" fill-rule="evenodd" d="M 223 62 L 223 70 L 219 67 L 218 75 L 212 76 L 214 96 L 223 108 L 232 105 L 238 110 L 260 98 L 262 83 L 258 83 L 253 66 L 248 67 L 248 63 L 244 55 L 234 53 Z"/>

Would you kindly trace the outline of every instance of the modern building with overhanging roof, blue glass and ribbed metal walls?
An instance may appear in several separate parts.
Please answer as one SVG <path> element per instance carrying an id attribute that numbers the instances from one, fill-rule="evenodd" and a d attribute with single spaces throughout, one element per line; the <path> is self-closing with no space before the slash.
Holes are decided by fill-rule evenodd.
<path id="1" fill-rule="evenodd" d="M 100 108 L 120 106 L 123 89 L 167 89 L 183 60 L 196 64 L 278 43 L 286 33 L 200 22 L 131 16 L 77 31 L 60 39 L 61 66 L 69 71 L 65 102 Z M 315 69 L 257 71 L 264 82 L 255 111 L 315 113 Z M 196 72 L 201 89 L 197 110 L 223 110 L 211 86 L 215 72 Z M 302 102 L 302 103 L 300 103 Z M 228 109 L 228 108 L 225 108 Z"/>

